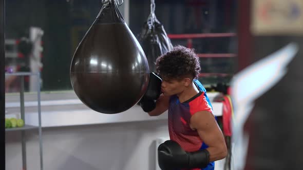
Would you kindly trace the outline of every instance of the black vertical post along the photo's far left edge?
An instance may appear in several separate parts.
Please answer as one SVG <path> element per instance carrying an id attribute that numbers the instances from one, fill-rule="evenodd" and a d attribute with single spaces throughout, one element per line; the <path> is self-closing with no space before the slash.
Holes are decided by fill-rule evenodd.
<path id="1" fill-rule="evenodd" d="M 5 62 L 5 0 L 0 0 L 0 121 L 5 122 L 5 90 L 4 90 L 4 62 Z M 1 123 L 1 147 L 4 151 L 1 152 L 0 162 L 5 162 L 5 123 Z M 0 169 L 5 169 L 5 163 L 0 163 Z"/>

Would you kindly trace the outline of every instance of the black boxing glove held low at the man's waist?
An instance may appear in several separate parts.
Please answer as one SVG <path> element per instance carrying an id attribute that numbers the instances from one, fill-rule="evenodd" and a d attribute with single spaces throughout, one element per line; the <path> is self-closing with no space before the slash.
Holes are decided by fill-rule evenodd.
<path id="1" fill-rule="evenodd" d="M 207 150 L 185 152 L 177 142 L 167 140 L 158 147 L 158 163 L 162 170 L 204 168 L 210 163 L 210 153 Z"/>

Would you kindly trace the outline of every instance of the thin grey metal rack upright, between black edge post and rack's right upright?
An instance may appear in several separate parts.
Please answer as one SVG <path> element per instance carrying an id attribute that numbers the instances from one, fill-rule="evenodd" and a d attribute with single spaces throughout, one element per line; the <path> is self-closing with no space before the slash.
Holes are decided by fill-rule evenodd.
<path id="1" fill-rule="evenodd" d="M 21 78 L 21 87 L 20 87 L 20 113 L 21 119 L 25 122 L 25 115 L 24 115 L 24 76 L 20 76 Z M 22 165 L 23 169 L 26 170 L 26 139 L 25 139 L 25 131 L 21 131 L 22 137 Z"/>

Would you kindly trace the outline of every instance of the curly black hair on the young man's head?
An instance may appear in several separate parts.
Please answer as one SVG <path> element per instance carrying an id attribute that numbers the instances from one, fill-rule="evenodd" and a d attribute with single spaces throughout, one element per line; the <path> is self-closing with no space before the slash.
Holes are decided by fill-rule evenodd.
<path id="1" fill-rule="evenodd" d="M 156 60 L 156 71 L 164 79 L 181 79 L 186 76 L 196 79 L 200 70 L 200 60 L 194 49 L 180 45 Z"/>

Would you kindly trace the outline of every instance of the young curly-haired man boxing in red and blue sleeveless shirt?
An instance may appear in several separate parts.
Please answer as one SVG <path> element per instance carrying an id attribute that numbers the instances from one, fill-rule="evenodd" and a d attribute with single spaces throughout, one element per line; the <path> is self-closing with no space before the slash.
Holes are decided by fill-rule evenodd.
<path id="1" fill-rule="evenodd" d="M 227 149 L 206 90 L 197 80 L 199 58 L 192 49 L 177 46 L 157 58 L 156 68 L 162 79 L 150 74 L 140 105 L 150 116 L 168 110 L 171 140 L 158 147 L 160 168 L 214 169 L 214 161 L 223 159 Z"/>

